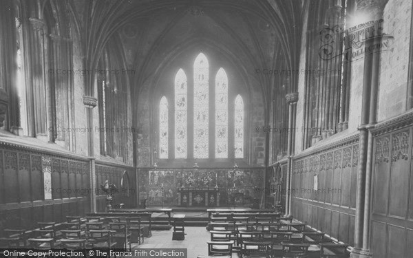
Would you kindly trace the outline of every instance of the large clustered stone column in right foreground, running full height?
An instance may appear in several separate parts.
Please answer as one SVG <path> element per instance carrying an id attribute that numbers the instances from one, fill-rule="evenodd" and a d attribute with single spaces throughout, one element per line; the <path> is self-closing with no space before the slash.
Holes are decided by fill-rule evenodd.
<path id="1" fill-rule="evenodd" d="M 381 19 L 383 9 L 388 0 L 359 0 L 357 14 L 370 17 L 377 21 L 365 41 L 366 54 L 364 57 L 363 74 L 363 104 L 361 106 L 359 170 L 357 182 L 356 222 L 354 229 L 354 249 L 351 257 L 371 257 L 370 254 L 370 192 L 372 175 L 373 137 L 370 129 L 377 122 L 377 94 L 380 69 L 380 52 L 370 50 L 370 45 L 381 42 Z"/>

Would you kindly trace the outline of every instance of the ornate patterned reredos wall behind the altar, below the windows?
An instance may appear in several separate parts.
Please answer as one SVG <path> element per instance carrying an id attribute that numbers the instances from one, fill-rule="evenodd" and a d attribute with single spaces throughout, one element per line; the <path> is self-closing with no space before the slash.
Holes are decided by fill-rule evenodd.
<path id="1" fill-rule="evenodd" d="M 178 206 L 178 188 L 219 189 L 220 206 L 235 204 L 251 206 L 261 202 L 264 189 L 264 169 L 139 169 L 140 202 L 149 206 Z M 257 190 L 259 188 L 260 190 Z M 162 194 L 163 189 L 163 194 Z M 231 200 L 233 195 L 241 200 Z"/>

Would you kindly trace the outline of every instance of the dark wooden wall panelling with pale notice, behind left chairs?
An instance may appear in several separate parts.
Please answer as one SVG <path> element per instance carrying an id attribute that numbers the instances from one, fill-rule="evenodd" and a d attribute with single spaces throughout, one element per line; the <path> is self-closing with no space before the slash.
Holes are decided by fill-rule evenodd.
<path id="1" fill-rule="evenodd" d="M 0 232 L 89 211 L 89 162 L 0 142 Z"/>

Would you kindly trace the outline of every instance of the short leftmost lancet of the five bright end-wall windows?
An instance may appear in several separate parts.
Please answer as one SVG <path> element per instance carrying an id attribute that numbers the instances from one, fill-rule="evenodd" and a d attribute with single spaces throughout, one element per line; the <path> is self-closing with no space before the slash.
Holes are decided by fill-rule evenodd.
<path id="1" fill-rule="evenodd" d="M 168 100 L 165 96 L 159 103 L 159 158 L 168 158 Z"/>

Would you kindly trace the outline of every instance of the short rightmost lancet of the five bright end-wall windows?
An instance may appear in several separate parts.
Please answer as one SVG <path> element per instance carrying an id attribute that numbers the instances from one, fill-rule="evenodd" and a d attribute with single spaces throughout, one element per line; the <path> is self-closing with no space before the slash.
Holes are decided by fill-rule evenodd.
<path id="1" fill-rule="evenodd" d="M 244 158 L 244 101 L 240 95 L 235 98 L 235 158 Z"/>

